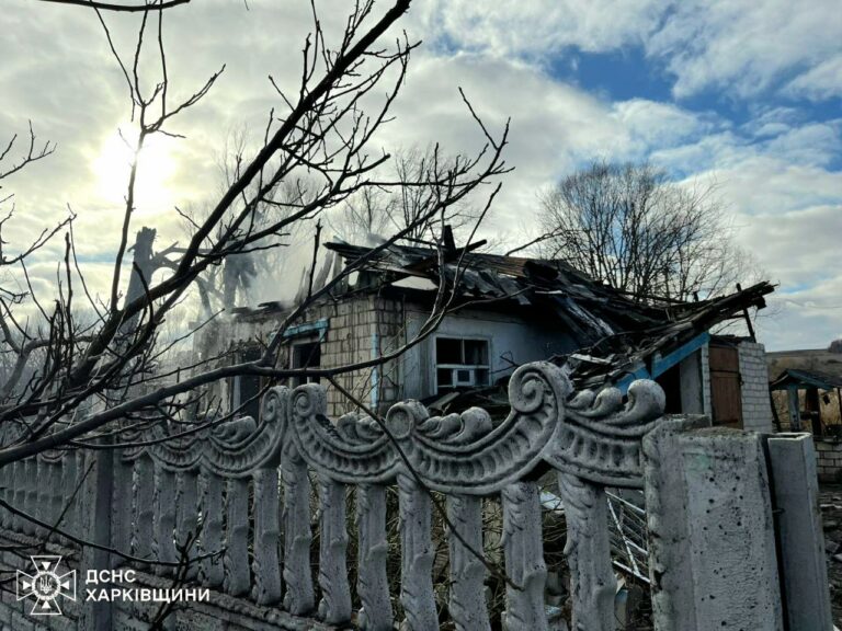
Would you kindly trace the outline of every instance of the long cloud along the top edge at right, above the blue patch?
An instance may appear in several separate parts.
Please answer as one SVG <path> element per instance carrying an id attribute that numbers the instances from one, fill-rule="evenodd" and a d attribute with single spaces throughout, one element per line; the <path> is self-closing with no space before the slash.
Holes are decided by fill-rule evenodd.
<path id="1" fill-rule="evenodd" d="M 437 0 L 417 10 L 421 30 L 445 51 L 557 61 L 577 50 L 640 47 L 673 78 L 679 99 L 718 90 L 744 100 L 792 80 L 789 95 L 820 100 L 838 95 L 842 83 L 834 0 Z"/>

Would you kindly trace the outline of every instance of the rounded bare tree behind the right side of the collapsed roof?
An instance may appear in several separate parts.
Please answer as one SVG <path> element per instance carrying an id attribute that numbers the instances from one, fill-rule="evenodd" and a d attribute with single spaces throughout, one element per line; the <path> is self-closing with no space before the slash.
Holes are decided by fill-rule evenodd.
<path id="1" fill-rule="evenodd" d="M 648 163 L 595 161 L 543 194 L 542 255 L 641 300 L 732 288 L 749 257 L 713 185 L 684 186 Z"/>

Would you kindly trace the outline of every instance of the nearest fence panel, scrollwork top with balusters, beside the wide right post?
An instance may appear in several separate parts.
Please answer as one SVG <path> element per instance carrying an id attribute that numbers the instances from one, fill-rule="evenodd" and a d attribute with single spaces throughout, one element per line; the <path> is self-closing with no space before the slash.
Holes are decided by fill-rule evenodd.
<path id="1" fill-rule="evenodd" d="M 410 629 L 435 624 L 428 552 L 431 504 L 425 500 L 430 491 L 448 497 L 454 526 L 458 524 L 467 536 L 451 539 L 454 577 L 466 582 L 452 587 L 457 628 L 488 628 L 485 603 L 477 593 L 481 564 L 470 561 L 481 550 L 471 535 L 481 528 L 481 512 L 464 508 L 467 502 L 496 494 L 502 497 L 503 549 L 512 583 L 504 620 L 512 629 L 546 626 L 546 567 L 535 479 L 542 471 L 555 469 L 559 494 L 568 506 L 566 552 L 573 571 L 574 628 L 610 631 L 614 574 L 604 486 L 642 486 L 641 439 L 662 415 L 664 395 L 652 381 L 634 382 L 625 398 L 613 388 L 571 394 L 570 381 L 560 368 L 536 363 L 511 377 L 511 412 L 497 426 L 478 408 L 431 416 L 416 401 L 394 405 L 384 422 L 346 415 L 333 424 L 326 415 L 325 390 L 306 385 L 292 394 L 288 440 L 322 478 L 364 490 L 364 510 L 373 490 L 398 485 L 401 601 Z M 378 520 L 376 529 L 384 528 L 380 524 Z M 368 521 L 361 521 L 362 620 L 371 621 L 364 628 L 382 629 L 391 623 L 391 611 L 382 590 L 372 590 L 386 580 L 385 564 L 373 565 L 376 557 L 365 549 L 373 536 L 382 539 L 385 534 L 373 532 Z M 474 550 L 467 550 L 465 543 L 471 540 Z M 377 600 L 373 600 L 375 595 Z"/>

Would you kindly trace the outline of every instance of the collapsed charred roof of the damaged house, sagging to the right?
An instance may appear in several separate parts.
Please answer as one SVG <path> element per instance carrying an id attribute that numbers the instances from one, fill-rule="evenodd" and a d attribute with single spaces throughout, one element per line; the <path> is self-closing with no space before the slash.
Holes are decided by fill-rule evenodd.
<path id="1" fill-rule="evenodd" d="M 748 309 L 765 307 L 764 296 L 774 290 L 763 282 L 727 296 L 685 302 L 619 291 L 561 261 L 487 254 L 470 245 L 441 251 L 333 242 L 326 248 L 346 265 L 376 275 L 377 283 L 369 288 L 403 287 L 423 294 L 419 284 L 410 288 L 413 284 L 407 283 L 418 278 L 428 283 L 430 295 L 441 283 L 456 287 L 463 303 L 481 300 L 498 308 L 551 312 L 580 344 L 577 353 L 554 358 L 568 365 L 580 387 L 618 383 L 629 375 L 655 377 L 652 363 L 726 320 L 748 318 Z"/>

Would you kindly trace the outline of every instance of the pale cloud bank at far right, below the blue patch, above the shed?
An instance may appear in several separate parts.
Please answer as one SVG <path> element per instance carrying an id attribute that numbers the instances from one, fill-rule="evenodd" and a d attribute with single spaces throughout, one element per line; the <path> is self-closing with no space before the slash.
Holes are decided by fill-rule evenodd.
<path id="1" fill-rule="evenodd" d="M 659 154 L 665 164 L 690 165 L 697 157 L 709 167 L 689 180 L 716 184 L 737 244 L 778 285 L 759 320 L 761 340 L 771 349 L 824 347 L 840 334 L 842 172 L 798 149 L 815 135 L 811 124 L 787 126 L 761 142 L 718 134 Z"/>

